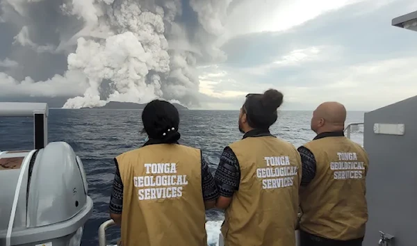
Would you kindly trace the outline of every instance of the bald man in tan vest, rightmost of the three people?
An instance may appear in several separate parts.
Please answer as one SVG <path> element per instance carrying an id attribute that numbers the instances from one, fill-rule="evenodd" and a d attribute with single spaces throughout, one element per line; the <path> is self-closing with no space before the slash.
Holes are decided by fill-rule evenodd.
<path id="1" fill-rule="evenodd" d="M 368 155 L 344 136 L 345 120 L 343 104 L 320 104 L 311 118 L 311 130 L 317 136 L 298 148 L 301 246 L 362 245 L 368 221 Z"/>

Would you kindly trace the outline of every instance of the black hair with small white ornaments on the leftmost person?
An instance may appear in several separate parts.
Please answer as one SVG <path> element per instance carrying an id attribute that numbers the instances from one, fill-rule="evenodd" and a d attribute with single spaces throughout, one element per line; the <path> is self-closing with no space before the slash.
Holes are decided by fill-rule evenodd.
<path id="1" fill-rule="evenodd" d="M 149 139 L 174 143 L 181 137 L 178 132 L 178 110 L 167 101 L 156 99 L 149 102 L 142 112 L 142 124 L 143 131 L 147 133 Z"/>

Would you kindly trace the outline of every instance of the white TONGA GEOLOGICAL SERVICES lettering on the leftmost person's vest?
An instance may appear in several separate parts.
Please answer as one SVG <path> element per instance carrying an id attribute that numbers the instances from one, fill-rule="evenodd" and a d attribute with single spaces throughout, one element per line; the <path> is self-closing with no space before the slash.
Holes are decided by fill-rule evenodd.
<path id="1" fill-rule="evenodd" d="M 140 201 L 182 197 L 188 180 L 187 175 L 177 175 L 176 163 L 145 163 L 144 167 L 150 175 L 133 177 Z"/>

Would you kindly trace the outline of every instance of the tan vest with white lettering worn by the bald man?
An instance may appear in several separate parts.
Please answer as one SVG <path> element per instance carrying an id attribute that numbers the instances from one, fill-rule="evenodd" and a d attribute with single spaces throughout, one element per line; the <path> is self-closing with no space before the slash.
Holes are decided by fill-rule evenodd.
<path id="1" fill-rule="evenodd" d="M 363 237 L 368 221 L 365 150 L 345 137 L 320 138 L 304 147 L 316 158 L 316 177 L 300 192 L 300 229 L 334 240 Z"/>

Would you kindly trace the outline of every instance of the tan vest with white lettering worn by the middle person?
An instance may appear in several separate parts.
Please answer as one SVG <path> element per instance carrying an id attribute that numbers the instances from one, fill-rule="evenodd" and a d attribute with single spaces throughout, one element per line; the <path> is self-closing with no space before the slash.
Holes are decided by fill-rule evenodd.
<path id="1" fill-rule="evenodd" d="M 225 246 L 295 246 L 301 159 L 274 137 L 230 145 L 240 165 L 239 190 L 224 215 Z"/>

